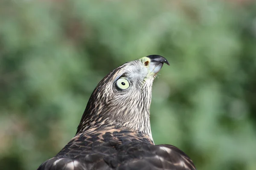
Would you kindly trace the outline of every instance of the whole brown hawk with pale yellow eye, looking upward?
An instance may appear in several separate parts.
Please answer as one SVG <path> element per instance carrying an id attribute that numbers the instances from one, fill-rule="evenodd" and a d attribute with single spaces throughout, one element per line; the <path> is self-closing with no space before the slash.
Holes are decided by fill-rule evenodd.
<path id="1" fill-rule="evenodd" d="M 76 136 L 38 170 L 195 170 L 183 151 L 155 145 L 149 121 L 151 89 L 163 64 L 150 55 L 114 69 L 96 86 Z"/>

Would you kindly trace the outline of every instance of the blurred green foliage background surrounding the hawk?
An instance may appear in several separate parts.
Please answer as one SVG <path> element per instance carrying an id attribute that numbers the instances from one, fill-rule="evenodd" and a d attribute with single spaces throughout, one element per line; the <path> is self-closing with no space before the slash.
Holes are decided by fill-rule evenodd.
<path id="1" fill-rule="evenodd" d="M 98 82 L 166 57 L 153 85 L 156 144 L 198 170 L 256 170 L 256 3 L 0 0 L 0 170 L 35 170 L 75 135 Z"/>

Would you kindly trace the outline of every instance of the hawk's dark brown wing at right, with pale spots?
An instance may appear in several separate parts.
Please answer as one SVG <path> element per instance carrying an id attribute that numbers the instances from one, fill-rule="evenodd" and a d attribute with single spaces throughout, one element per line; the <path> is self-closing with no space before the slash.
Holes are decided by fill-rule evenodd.
<path id="1" fill-rule="evenodd" d="M 118 170 L 196 170 L 189 156 L 172 145 L 140 142 L 127 148 L 127 152 L 132 159 L 123 161 Z"/>

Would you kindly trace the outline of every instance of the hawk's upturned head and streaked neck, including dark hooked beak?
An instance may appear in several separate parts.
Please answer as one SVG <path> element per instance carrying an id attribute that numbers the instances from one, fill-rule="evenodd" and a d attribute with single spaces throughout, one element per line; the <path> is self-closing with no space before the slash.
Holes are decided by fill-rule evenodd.
<path id="1" fill-rule="evenodd" d="M 150 55 L 119 66 L 97 85 L 87 103 L 77 133 L 93 127 L 123 127 L 151 137 L 149 108 L 153 81 L 169 62 Z"/>

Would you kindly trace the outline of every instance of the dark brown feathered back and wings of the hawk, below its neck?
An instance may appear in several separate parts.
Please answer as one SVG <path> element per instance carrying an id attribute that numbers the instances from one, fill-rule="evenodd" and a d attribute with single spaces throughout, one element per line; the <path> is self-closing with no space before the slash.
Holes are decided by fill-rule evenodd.
<path id="1" fill-rule="evenodd" d="M 98 134 L 71 140 L 38 170 L 195 170 L 189 156 L 172 145 L 101 138 Z"/>

